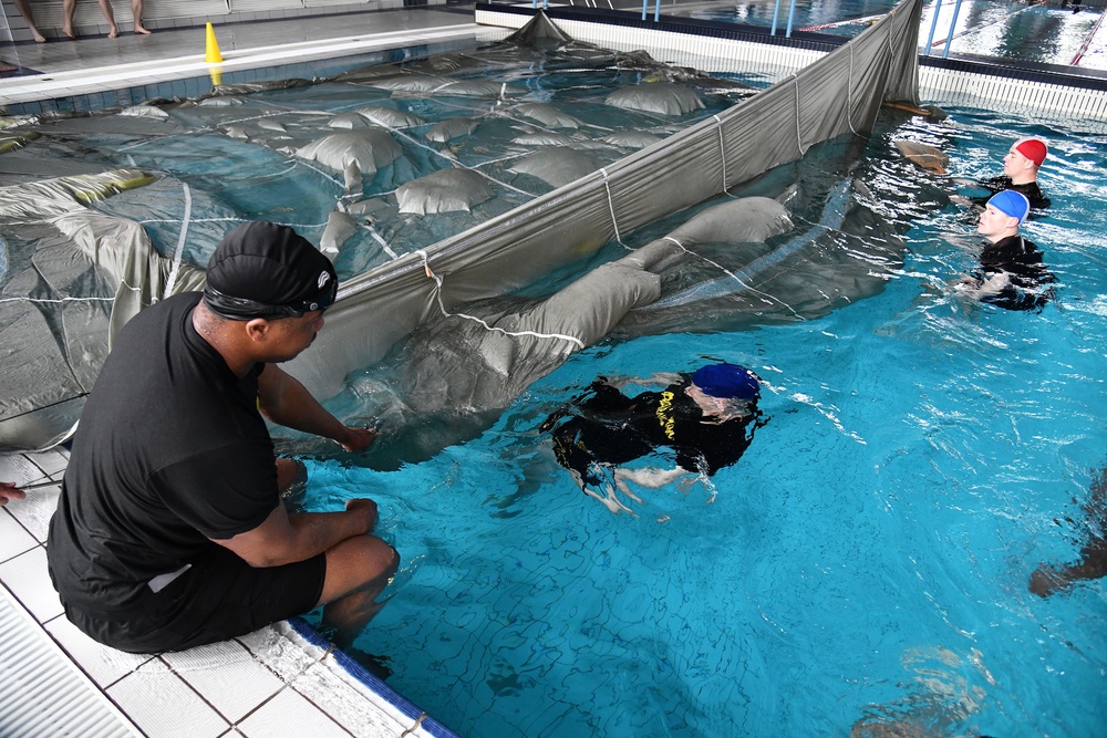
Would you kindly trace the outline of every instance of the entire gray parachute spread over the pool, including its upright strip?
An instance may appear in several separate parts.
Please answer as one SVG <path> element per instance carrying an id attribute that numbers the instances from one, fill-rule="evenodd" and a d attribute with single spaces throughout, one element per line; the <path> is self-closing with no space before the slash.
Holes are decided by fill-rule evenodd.
<path id="1" fill-rule="evenodd" d="M 343 274 L 327 330 L 289 364 L 321 397 L 340 394 L 352 372 L 390 352 L 404 368 L 395 386 L 418 394 L 432 378 L 420 362 L 435 361 L 418 346 L 436 335 L 441 355 L 456 350 L 472 360 L 452 363 L 452 371 L 477 367 L 454 377 L 457 407 L 503 407 L 612 330 L 687 330 L 670 319 L 701 303 L 748 300 L 746 312 L 767 314 L 767 300 L 787 319 L 871 293 L 880 270 L 894 263 L 894 247 L 873 245 L 859 228 L 848 249 L 824 248 L 835 222 L 842 232 L 852 222 L 879 226 L 853 215 L 865 211 L 860 188 L 827 200 L 830 216 L 848 214 L 845 225 L 828 216 L 829 227 L 798 233 L 782 232 L 779 204 L 732 205 L 726 193 L 801 163 L 820 142 L 865 141 L 886 98 L 917 103 L 920 12 L 919 0 L 906 0 L 835 53 L 738 104 L 734 84 L 644 52 L 576 42 L 537 14 L 507 43 L 310 86 L 263 83 L 126 114 L 14 122 L 17 129 L 0 134 L 0 152 L 8 152 L 0 180 L 21 183 L 4 186 L 0 200 L 0 305 L 8 311 L 0 330 L 4 346 L 25 343 L 27 351 L 12 358 L 22 378 L 4 387 L 0 444 L 38 448 L 64 435 L 112 330 L 142 306 L 199 284 L 203 276 L 188 264 L 205 263 L 244 218 L 297 226 Z M 550 98 L 518 83 L 529 84 L 528 71 L 539 67 L 590 79 L 613 71 L 612 86 L 644 80 L 630 87 L 635 95 L 660 91 L 685 107 L 703 96 L 711 113 L 604 105 L 610 87 L 600 94 L 590 85 L 587 100 Z M 444 76 L 454 73 L 463 79 Z M 302 87 L 292 104 L 288 93 L 267 93 L 289 86 Z M 648 132 L 620 132 L 622 122 Z M 85 154 L 90 147 L 96 160 L 115 164 L 97 164 Z M 105 175 L 112 166 L 159 176 L 146 184 L 141 175 Z M 69 176 L 77 173 L 91 178 Z M 86 190 L 118 194 L 95 200 Z M 277 202 L 262 199 L 270 191 Z M 639 229 L 669 217 L 664 230 L 654 226 L 665 238 L 639 238 Z M 645 246 L 627 254 L 630 242 Z M 820 261 L 823 251 L 845 250 L 858 258 L 845 267 Z M 611 263 L 597 266 L 603 261 Z M 594 268 L 581 274 L 584 264 Z M 551 297 L 511 297 L 549 274 L 560 276 Z M 818 289 L 811 274 L 819 274 Z M 469 343 L 451 343 L 466 331 Z M 31 386 L 48 365 L 58 372 Z M 49 428 L 15 433 L 17 417 Z"/>

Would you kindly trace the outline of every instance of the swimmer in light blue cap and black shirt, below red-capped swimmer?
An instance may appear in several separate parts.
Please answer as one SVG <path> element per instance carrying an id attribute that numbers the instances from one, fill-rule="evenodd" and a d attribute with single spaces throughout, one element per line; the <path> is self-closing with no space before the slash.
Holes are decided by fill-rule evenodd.
<path id="1" fill-rule="evenodd" d="M 986 241 L 980 267 L 962 278 L 959 291 L 1006 310 L 1042 310 L 1054 297 L 1053 288 L 1046 285 L 1055 278 L 1042 262 L 1042 252 L 1018 235 L 1030 210 L 1022 193 L 1007 189 L 992 196 L 976 226 Z"/>

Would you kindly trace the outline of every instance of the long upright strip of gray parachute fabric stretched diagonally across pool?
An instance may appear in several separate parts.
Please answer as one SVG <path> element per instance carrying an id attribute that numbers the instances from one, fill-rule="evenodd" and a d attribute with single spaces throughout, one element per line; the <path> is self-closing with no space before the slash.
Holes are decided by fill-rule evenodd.
<path id="1" fill-rule="evenodd" d="M 531 283 L 621 233 L 797 160 L 819 142 L 867 136 L 884 101 L 918 105 L 921 11 L 922 0 L 904 0 L 849 43 L 715 118 L 348 281 L 328 330 L 290 371 L 334 395 L 346 373 L 377 361 L 428 316 Z M 539 14 L 516 35 L 566 43 L 548 23 Z M 373 321 L 385 305 L 390 320 Z"/>

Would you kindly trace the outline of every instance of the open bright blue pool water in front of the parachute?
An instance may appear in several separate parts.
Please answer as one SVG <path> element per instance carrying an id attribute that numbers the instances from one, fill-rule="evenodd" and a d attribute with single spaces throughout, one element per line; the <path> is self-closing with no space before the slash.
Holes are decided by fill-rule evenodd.
<path id="1" fill-rule="evenodd" d="M 1101 735 L 1105 581 L 1042 599 L 1028 580 L 1104 533 L 1082 506 L 1107 466 L 1107 136 L 950 113 L 884 121 L 868 147 L 865 177 L 908 243 L 880 294 L 610 341 L 430 460 L 311 465 L 312 506 L 376 499 L 403 557 L 356 643 L 393 687 L 473 737 Z M 968 177 L 1028 134 L 1052 145 L 1054 205 L 1025 227 L 1058 278 L 1041 314 L 950 293 L 973 219 L 890 144 L 941 144 Z M 581 495 L 545 417 L 597 375 L 705 360 L 764 381 L 768 424 L 746 455 L 710 486 L 646 491 L 634 514 Z"/>

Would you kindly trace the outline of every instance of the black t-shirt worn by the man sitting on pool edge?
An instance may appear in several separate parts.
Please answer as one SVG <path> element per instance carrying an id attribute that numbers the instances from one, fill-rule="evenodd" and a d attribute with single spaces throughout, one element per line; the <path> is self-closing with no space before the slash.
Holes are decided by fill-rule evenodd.
<path id="1" fill-rule="evenodd" d="M 121 332 L 89 396 L 50 523 L 63 604 L 156 609 L 149 581 L 258 527 L 279 503 L 257 365 L 238 378 L 193 328 L 199 293 L 175 295 Z"/>

